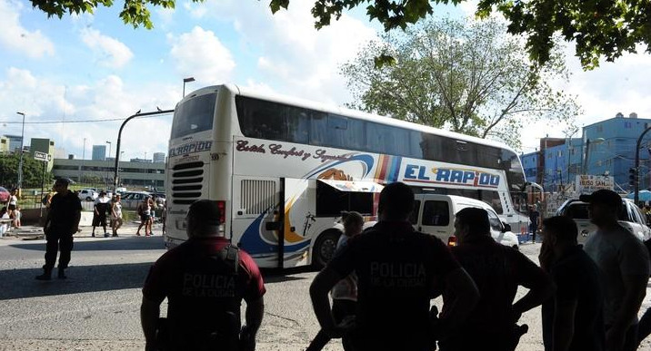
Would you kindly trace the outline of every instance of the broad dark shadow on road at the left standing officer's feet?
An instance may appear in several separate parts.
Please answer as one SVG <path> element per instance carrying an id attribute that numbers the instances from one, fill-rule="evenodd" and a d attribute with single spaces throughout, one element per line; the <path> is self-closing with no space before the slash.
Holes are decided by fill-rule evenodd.
<path id="1" fill-rule="evenodd" d="M 55 269 L 50 281 L 35 280 L 43 273 L 41 268 L 0 270 L 0 300 L 142 288 L 151 266 L 151 262 L 71 266 L 65 270 L 67 279 L 57 279 Z"/>

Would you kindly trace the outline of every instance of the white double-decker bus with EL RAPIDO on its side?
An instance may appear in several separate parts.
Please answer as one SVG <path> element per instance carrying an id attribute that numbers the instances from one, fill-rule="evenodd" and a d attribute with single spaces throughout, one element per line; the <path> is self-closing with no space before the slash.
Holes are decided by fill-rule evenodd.
<path id="1" fill-rule="evenodd" d="M 342 210 L 376 215 L 383 184 L 486 201 L 527 226 L 525 176 L 506 145 L 320 103 L 210 86 L 176 105 L 165 242 L 184 241 L 198 199 L 223 209 L 225 237 L 264 268 L 323 265 Z"/>

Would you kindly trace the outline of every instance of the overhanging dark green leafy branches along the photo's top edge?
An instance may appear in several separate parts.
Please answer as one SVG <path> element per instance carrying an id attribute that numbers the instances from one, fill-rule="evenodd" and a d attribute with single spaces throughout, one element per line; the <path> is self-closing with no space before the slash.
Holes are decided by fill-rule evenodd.
<path id="1" fill-rule="evenodd" d="M 112 6 L 112 0 L 31 0 L 32 5 L 48 17 L 61 18 L 66 13 L 93 13 L 98 6 Z M 193 0 L 202 2 L 203 0 Z M 259 1 L 259 0 L 258 0 Z M 343 11 L 366 5 L 366 14 L 385 26 L 386 31 L 416 24 L 433 14 L 432 5 L 458 5 L 466 0 L 315 0 L 312 15 L 315 27 L 329 25 Z M 120 18 L 125 24 L 151 29 L 149 7 L 174 8 L 175 0 L 125 0 Z M 271 0 L 269 7 L 275 13 L 287 8 L 289 0 Z M 566 41 L 576 42 L 576 56 L 584 68 L 598 66 L 599 59 L 614 61 L 623 53 L 635 53 L 636 45 L 646 46 L 651 52 L 651 0 L 480 0 L 476 15 L 486 18 L 496 12 L 509 22 L 510 34 L 526 36 L 526 49 L 531 59 L 546 63 L 551 59 L 555 34 Z M 385 57 L 389 60 L 389 57 Z"/>

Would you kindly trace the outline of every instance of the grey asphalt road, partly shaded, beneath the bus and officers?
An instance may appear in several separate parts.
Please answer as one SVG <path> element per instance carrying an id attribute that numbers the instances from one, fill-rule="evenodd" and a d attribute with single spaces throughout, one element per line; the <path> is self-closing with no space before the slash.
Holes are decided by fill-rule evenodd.
<path id="1" fill-rule="evenodd" d="M 0 239 L 0 350 L 143 349 L 140 289 L 148 268 L 165 250 L 160 236 L 135 237 L 133 232 L 130 228 L 120 238 L 104 239 L 88 238 L 84 229 L 75 239 L 69 278 L 48 282 L 34 279 L 42 271 L 45 240 Z M 536 258 L 539 245 L 521 249 Z M 265 272 L 258 350 L 304 350 L 315 336 L 318 325 L 307 293 L 314 276 L 307 269 Z M 643 310 L 651 305 L 650 293 Z M 539 316 L 537 308 L 523 316 L 530 330 L 518 350 L 543 349 Z M 651 350 L 650 345 L 640 349 Z M 336 341 L 325 349 L 342 350 Z"/>

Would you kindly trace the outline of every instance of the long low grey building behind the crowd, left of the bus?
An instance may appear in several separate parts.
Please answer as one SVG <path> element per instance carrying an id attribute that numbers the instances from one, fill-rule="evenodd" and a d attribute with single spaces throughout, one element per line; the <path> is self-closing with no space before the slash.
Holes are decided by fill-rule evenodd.
<path id="1" fill-rule="evenodd" d="M 55 159 L 52 172 L 56 178 L 113 186 L 115 164 L 110 161 Z M 119 162 L 119 186 L 165 188 L 165 163 Z"/>

